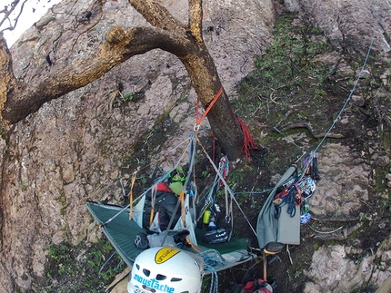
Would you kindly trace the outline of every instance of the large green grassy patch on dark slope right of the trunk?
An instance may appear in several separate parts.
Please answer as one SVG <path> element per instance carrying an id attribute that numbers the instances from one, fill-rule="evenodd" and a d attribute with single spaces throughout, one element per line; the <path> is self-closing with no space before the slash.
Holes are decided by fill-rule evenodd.
<path id="1" fill-rule="evenodd" d="M 324 81 L 331 68 L 316 61 L 315 56 L 331 51 L 331 47 L 321 29 L 305 21 L 294 24 L 295 17 L 281 15 L 277 19 L 275 43 L 256 57 L 256 70 L 238 84 L 239 116 L 252 116 L 262 108 L 268 109 L 270 103 L 288 108 L 299 93 L 316 99 L 326 95 Z"/>

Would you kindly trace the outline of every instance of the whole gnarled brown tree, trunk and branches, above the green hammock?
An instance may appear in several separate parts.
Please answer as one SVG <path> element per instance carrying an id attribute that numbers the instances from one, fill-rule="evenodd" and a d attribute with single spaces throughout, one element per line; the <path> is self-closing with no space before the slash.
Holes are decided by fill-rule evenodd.
<path id="1" fill-rule="evenodd" d="M 0 36 L 0 119 L 3 130 L 36 112 L 46 102 L 94 82 L 115 65 L 136 54 L 159 48 L 175 54 L 184 63 L 204 108 L 222 87 L 215 63 L 202 36 L 202 0 L 189 0 L 188 24 L 178 22 L 155 0 L 129 0 L 151 26 L 123 28 L 116 26 L 105 33 L 105 43 L 83 60 L 72 58 L 50 64 L 23 79 L 16 79 L 12 58 L 3 35 Z M 61 76 L 61 78 L 58 78 Z M 207 114 L 210 125 L 230 159 L 241 156 L 243 132 L 226 92 Z"/>

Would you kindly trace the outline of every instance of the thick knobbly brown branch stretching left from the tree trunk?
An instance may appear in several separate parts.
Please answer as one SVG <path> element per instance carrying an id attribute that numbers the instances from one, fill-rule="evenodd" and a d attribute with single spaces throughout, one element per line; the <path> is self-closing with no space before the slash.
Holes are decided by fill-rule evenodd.
<path id="1" fill-rule="evenodd" d="M 57 62 L 51 66 L 50 72 L 36 74 L 28 83 L 13 83 L 16 84 L 13 90 L 0 89 L 0 93 L 7 93 L 6 97 L 0 97 L 4 103 L 2 118 L 5 124 L 19 122 L 30 113 L 38 111 L 44 103 L 94 82 L 115 65 L 137 54 L 145 54 L 159 48 L 181 56 L 189 54 L 193 47 L 194 44 L 182 35 L 172 34 L 162 29 L 136 27 L 123 30 L 116 26 L 106 32 L 105 44 L 97 47 L 95 54 L 71 64 Z M 1 52 L 5 51 L 1 50 Z M 9 63 L 11 61 L 8 62 L 8 66 Z M 4 66 L 6 65 L 7 63 Z M 0 68 L 2 73 L 5 69 Z M 10 69 L 6 75 L 8 81 L 15 82 Z M 59 76 L 61 78 L 58 78 Z"/>

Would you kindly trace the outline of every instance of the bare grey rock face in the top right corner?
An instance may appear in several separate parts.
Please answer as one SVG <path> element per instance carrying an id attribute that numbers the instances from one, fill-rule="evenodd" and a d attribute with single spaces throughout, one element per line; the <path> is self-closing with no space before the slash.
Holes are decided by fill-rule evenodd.
<path id="1" fill-rule="evenodd" d="M 390 3 L 387 1 L 286 0 L 286 8 L 302 12 L 321 27 L 341 51 L 366 54 L 373 38 L 374 50 L 385 56 L 391 51 Z"/>

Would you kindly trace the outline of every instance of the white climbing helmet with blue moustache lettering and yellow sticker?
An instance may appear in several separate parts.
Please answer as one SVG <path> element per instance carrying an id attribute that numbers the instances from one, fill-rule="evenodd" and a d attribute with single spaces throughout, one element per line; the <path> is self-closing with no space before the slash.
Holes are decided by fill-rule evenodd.
<path id="1" fill-rule="evenodd" d="M 146 249 L 135 258 L 127 292 L 200 293 L 204 260 L 173 247 Z"/>

